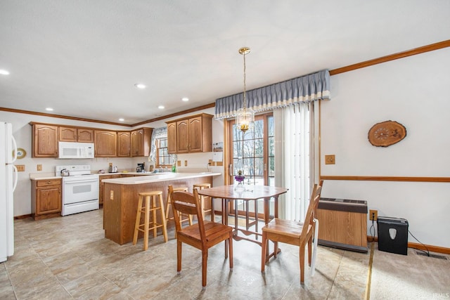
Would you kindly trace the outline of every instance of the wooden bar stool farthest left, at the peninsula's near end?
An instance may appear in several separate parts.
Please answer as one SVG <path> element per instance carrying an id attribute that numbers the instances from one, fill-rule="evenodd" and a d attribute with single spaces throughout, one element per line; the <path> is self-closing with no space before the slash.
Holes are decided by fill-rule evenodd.
<path id="1" fill-rule="evenodd" d="M 143 207 L 143 198 L 146 198 L 145 206 Z M 152 198 L 150 204 L 150 197 Z M 156 205 L 156 197 L 159 198 L 159 206 Z M 156 221 L 156 211 L 161 213 L 161 222 Z M 150 211 L 153 213 L 153 219 L 150 222 Z M 144 213 L 144 223 L 141 223 L 141 213 Z M 152 227 L 150 227 L 150 224 Z M 143 228 L 141 228 L 143 227 Z M 143 249 L 144 251 L 148 249 L 148 231 L 153 229 L 153 237 L 156 237 L 157 230 L 162 227 L 162 234 L 164 235 L 164 240 L 167 242 L 167 227 L 166 227 L 166 217 L 164 214 L 164 203 L 162 202 L 162 191 L 153 190 L 151 192 L 139 193 L 138 211 L 136 214 L 136 223 L 134 225 L 134 236 L 133 244 L 138 242 L 139 231 L 143 232 Z"/>

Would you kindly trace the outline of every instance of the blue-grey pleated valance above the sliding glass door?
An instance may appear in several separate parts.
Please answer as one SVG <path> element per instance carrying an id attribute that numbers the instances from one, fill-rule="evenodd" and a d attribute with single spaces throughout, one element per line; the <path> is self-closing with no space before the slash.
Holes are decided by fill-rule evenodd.
<path id="1" fill-rule="evenodd" d="M 330 73 L 322 70 L 313 74 L 281 81 L 246 92 L 248 107 L 255 112 L 273 110 L 276 107 L 293 105 L 330 98 Z M 236 117 L 243 106 L 243 93 L 216 100 L 216 119 Z"/>

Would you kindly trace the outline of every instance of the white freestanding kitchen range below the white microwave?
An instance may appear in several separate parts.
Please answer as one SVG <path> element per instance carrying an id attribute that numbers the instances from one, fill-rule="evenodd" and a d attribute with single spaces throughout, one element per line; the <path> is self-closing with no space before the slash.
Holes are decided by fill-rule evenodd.
<path id="1" fill-rule="evenodd" d="M 69 176 L 61 176 L 65 169 Z M 62 216 L 98 209 L 98 174 L 91 174 L 89 164 L 56 166 L 55 176 L 63 180 Z"/>

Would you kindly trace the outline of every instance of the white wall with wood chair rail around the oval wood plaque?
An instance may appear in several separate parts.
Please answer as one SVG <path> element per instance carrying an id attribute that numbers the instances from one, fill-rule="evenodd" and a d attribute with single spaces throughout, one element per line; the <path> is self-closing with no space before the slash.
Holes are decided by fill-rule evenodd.
<path id="1" fill-rule="evenodd" d="M 321 176 L 450 177 L 449 65 L 444 48 L 332 76 L 332 100 L 321 103 Z M 406 138 L 374 147 L 368 130 L 386 120 L 403 124 Z M 324 164 L 333 154 L 336 164 Z M 322 195 L 367 200 L 379 216 L 407 219 L 420 242 L 450 247 L 450 183 L 326 181 Z"/>

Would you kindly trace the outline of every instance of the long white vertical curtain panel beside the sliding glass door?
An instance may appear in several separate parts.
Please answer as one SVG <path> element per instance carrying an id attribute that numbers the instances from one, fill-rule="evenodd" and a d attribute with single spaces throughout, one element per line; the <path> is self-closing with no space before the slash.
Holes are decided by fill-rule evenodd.
<path id="1" fill-rule="evenodd" d="M 314 169 L 314 103 L 297 103 L 274 110 L 275 185 L 289 188 L 280 198 L 282 219 L 303 221 Z"/>

